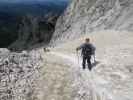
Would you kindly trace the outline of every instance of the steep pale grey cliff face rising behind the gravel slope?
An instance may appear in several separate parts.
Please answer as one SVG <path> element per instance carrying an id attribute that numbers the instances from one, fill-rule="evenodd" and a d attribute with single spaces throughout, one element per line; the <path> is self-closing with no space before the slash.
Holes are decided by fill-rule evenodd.
<path id="1" fill-rule="evenodd" d="M 99 30 L 133 31 L 132 0 L 73 0 L 57 22 L 52 41 Z"/>

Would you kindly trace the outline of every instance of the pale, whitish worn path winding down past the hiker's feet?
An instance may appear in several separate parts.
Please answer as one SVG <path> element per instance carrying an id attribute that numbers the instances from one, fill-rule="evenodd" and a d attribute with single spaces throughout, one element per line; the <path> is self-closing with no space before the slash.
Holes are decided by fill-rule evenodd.
<path id="1" fill-rule="evenodd" d="M 99 84 L 105 84 L 106 81 L 88 69 L 82 70 L 81 62 L 78 62 L 76 55 L 65 55 L 58 52 L 50 52 L 52 55 L 61 57 L 72 64 L 72 73 L 74 85 L 78 89 L 75 100 L 114 100 L 109 92 Z M 80 60 L 81 61 L 81 60 Z"/>

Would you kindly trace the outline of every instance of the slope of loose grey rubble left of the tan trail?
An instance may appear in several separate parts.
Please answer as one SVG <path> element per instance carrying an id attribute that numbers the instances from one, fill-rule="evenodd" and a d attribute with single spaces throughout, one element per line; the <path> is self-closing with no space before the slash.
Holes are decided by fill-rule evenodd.
<path id="1" fill-rule="evenodd" d="M 41 51 L 11 53 L 0 49 L 0 100 L 35 100 L 43 64 Z"/>

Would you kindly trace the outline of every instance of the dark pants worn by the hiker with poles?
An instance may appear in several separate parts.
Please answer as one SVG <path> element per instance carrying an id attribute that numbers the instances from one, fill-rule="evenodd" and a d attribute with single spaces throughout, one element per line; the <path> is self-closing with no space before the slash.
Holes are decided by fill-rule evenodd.
<path id="1" fill-rule="evenodd" d="M 86 61 L 87 61 L 88 69 L 91 70 L 92 69 L 91 56 L 87 56 L 87 57 L 83 56 L 83 62 L 82 62 L 83 69 L 86 68 Z"/>

